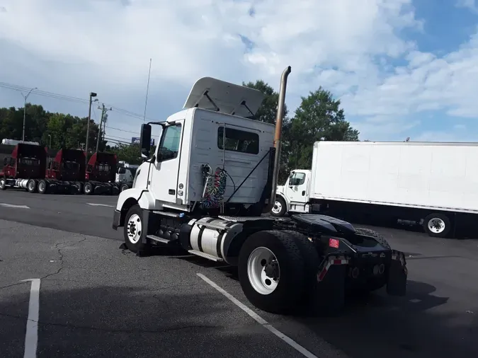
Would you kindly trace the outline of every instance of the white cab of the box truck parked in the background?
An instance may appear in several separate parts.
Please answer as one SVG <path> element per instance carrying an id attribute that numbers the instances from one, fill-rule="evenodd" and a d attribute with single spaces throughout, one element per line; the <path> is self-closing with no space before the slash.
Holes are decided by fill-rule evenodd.
<path id="1" fill-rule="evenodd" d="M 317 208 L 310 203 L 312 171 L 295 169 L 290 172 L 284 185 L 278 185 L 276 200 L 271 210 L 273 216 L 284 216 L 288 212 L 309 214 Z"/>

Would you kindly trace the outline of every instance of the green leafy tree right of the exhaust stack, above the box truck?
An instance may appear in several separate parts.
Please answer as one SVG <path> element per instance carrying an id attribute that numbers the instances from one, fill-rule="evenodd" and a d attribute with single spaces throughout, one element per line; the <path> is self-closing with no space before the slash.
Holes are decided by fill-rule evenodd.
<path id="1" fill-rule="evenodd" d="M 291 169 L 311 168 L 314 142 L 358 141 L 359 133 L 345 120 L 340 104 L 340 100 L 334 100 L 332 94 L 321 87 L 302 97 L 288 131 Z"/>

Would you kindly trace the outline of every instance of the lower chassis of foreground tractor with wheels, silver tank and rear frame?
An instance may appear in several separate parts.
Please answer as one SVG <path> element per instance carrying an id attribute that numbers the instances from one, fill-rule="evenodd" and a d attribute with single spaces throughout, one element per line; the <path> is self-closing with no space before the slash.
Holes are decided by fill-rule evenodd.
<path id="1" fill-rule="evenodd" d="M 406 293 L 404 254 L 379 233 L 331 216 L 194 217 L 133 204 L 115 210 L 113 229 L 120 226 L 120 248 L 138 256 L 166 245 L 237 266 L 246 298 L 271 313 L 296 311 L 304 303 L 340 309 L 346 293 L 355 290 Z"/>

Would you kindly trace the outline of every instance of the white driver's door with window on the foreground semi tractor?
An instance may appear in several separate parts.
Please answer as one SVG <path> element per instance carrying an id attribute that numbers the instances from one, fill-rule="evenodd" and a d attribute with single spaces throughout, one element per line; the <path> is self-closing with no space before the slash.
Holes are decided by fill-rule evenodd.
<path id="1" fill-rule="evenodd" d="M 154 197 L 161 202 L 176 204 L 183 124 L 184 120 L 176 120 L 164 128 L 158 144 L 150 185 Z"/>

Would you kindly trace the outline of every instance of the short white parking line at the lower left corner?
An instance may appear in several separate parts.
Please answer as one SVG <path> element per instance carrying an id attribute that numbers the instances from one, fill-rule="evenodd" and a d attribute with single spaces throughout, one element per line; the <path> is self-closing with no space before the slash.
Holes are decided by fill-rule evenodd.
<path id="1" fill-rule="evenodd" d="M 28 304 L 27 329 L 25 334 L 25 353 L 23 358 L 36 358 L 38 345 L 38 313 L 40 311 L 40 279 L 23 279 L 30 281 L 30 303 Z"/>

